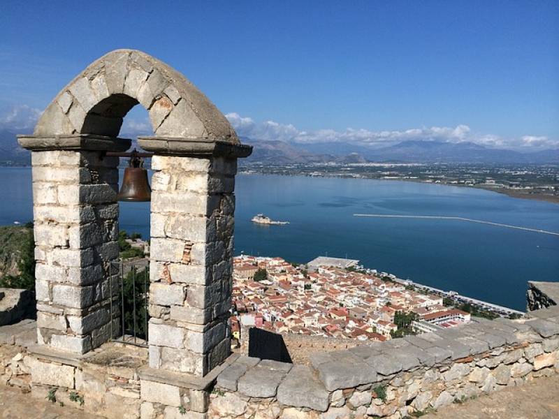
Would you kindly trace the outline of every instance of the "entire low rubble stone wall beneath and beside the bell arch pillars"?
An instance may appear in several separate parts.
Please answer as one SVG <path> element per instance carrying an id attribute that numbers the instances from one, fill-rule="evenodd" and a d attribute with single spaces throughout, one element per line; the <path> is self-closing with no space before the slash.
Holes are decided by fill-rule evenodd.
<path id="1" fill-rule="evenodd" d="M 0 328 L 0 379 L 115 419 L 400 419 L 557 374 L 559 306 L 531 315 L 314 353 L 310 365 L 234 354 L 203 378 L 154 376 L 146 349 L 117 343 L 74 358 L 27 351 L 35 325 L 23 321 Z"/>

